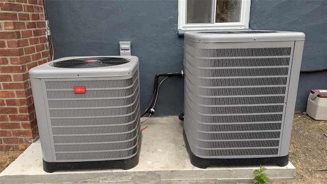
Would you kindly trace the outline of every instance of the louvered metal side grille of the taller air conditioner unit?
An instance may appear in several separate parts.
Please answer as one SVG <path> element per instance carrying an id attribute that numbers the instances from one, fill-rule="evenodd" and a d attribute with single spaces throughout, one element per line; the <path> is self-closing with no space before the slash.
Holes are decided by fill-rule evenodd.
<path id="1" fill-rule="evenodd" d="M 277 156 L 292 43 L 203 44 L 185 44 L 184 130 L 192 152 L 201 158 Z"/>

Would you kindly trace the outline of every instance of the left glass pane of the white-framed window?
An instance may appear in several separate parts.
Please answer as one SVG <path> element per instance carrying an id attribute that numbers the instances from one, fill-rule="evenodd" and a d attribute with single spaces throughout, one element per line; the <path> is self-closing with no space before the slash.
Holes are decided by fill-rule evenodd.
<path id="1" fill-rule="evenodd" d="M 211 23 L 211 0 L 188 0 L 186 2 L 186 23 Z"/>

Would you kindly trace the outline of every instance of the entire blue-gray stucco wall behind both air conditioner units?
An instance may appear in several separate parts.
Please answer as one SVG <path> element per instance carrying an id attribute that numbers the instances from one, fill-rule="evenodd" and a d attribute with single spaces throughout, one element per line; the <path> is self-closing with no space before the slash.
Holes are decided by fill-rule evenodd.
<path id="1" fill-rule="evenodd" d="M 141 109 L 157 73 L 183 70 L 183 38 L 178 37 L 178 1 L 45 1 L 55 59 L 65 56 L 119 55 L 119 41 L 131 41 L 139 58 Z M 251 2 L 253 30 L 306 33 L 302 68 L 325 67 L 327 1 Z M 324 79 L 324 80 L 323 80 Z M 327 72 L 301 74 L 296 111 L 305 111 L 312 88 L 327 88 Z M 183 111 L 183 79 L 169 78 L 159 89 L 155 115 Z"/>

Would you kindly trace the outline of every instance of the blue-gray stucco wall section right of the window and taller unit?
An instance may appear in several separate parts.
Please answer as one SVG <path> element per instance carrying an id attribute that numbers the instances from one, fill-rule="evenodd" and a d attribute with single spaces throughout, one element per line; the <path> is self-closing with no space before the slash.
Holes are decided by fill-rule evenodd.
<path id="1" fill-rule="evenodd" d="M 306 34 L 301 69 L 327 67 L 327 1 L 251 1 L 253 30 L 299 31 Z M 327 71 L 301 73 L 296 111 L 306 111 L 311 89 L 327 89 Z"/>

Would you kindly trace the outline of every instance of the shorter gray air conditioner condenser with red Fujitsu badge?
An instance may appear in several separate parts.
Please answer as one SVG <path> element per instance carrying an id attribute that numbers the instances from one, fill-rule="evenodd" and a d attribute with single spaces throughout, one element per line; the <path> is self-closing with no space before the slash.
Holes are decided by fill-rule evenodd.
<path id="1" fill-rule="evenodd" d="M 65 57 L 29 74 L 44 171 L 138 164 L 137 57 Z"/>

